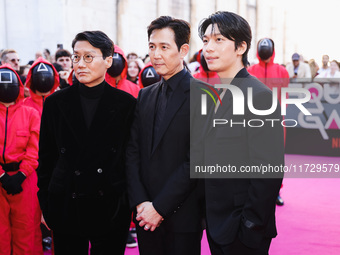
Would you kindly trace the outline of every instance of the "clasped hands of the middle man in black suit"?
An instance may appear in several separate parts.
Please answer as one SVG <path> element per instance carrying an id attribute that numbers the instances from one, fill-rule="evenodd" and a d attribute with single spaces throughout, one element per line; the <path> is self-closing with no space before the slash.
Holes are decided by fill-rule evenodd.
<path id="1" fill-rule="evenodd" d="M 163 217 L 153 207 L 152 202 L 146 201 L 137 205 L 136 220 L 139 221 L 139 226 L 143 227 L 144 230 L 154 231 L 160 226 Z"/>

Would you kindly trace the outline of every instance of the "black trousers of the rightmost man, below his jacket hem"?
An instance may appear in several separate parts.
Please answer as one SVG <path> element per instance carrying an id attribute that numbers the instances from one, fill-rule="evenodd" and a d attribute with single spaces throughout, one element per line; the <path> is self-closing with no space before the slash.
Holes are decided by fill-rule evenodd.
<path id="1" fill-rule="evenodd" d="M 211 255 L 268 255 L 269 246 L 272 241 L 272 238 L 264 239 L 260 248 L 252 249 L 245 246 L 238 238 L 233 243 L 222 246 L 215 243 L 209 236 L 209 233 L 207 233 L 207 237 Z"/>

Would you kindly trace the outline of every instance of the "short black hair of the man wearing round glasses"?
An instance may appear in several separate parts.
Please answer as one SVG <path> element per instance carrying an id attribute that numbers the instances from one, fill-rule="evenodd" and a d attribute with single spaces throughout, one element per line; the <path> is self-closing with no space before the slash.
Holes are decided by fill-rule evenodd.
<path id="1" fill-rule="evenodd" d="M 103 59 L 113 55 L 113 41 L 102 31 L 84 31 L 77 34 L 72 41 L 72 49 L 78 41 L 88 41 L 93 47 L 100 49 Z"/>

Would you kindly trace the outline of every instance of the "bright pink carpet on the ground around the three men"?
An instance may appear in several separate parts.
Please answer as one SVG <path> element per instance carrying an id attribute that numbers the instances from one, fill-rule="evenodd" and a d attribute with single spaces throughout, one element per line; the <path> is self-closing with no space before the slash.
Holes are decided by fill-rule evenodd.
<path id="1" fill-rule="evenodd" d="M 286 164 L 340 164 L 340 157 L 286 155 Z M 283 181 L 284 206 L 277 206 L 278 236 L 270 255 L 340 254 L 340 172 L 339 178 L 294 179 Z M 50 254 L 50 253 L 45 253 Z M 127 248 L 125 255 L 139 255 L 138 248 Z M 202 255 L 210 255 L 206 235 Z"/>

